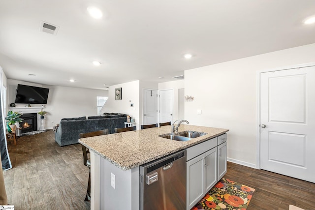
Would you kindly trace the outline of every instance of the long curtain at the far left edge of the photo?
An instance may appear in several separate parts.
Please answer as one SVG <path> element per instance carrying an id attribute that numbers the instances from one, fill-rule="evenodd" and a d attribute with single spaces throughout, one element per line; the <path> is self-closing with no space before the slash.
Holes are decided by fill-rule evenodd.
<path id="1" fill-rule="evenodd" d="M 9 152 L 6 143 L 5 137 L 5 115 L 3 114 L 5 110 L 3 110 L 3 84 L 2 84 L 2 68 L 0 67 L 0 154 L 1 154 L 1 163 L 2 169 L 8 170 L 12 168 Z"/>

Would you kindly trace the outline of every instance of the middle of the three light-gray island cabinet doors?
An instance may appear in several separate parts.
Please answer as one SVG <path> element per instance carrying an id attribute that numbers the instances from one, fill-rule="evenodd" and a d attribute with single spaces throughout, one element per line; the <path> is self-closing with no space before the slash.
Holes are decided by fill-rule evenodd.
<path id="1" fill-rule="evenodd" d="M 217 183 L 217 148 L 213 148 L 205 153 L 205 192 L 207 193 Z"/>

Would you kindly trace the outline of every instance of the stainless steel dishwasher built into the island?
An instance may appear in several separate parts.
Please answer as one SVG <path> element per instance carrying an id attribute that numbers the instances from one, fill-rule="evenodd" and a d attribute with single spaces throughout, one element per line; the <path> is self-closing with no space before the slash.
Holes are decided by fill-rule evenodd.
<path id="1" fill-rule="evenodd" d="M 186 209 L 186 150 L 140 166 L 140 210 Z"/>

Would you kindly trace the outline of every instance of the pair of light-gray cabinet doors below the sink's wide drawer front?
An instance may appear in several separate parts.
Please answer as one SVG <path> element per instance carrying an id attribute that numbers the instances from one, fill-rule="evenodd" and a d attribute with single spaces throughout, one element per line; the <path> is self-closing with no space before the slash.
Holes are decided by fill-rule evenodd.
<path id="1" fill-rule="evenodd" d="M 217 147 L 187 162 L 187 210 L 217 183 L 217 174 Z"/>

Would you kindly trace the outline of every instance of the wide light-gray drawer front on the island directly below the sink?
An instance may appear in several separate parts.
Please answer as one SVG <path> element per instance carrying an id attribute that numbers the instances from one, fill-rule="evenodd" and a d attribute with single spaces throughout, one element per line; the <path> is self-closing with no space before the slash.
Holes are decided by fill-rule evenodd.
<path id="1" fill-rule="evenodd" d="M 187 161 L 198 156 L 199 154 L 202 154 L 208 150 L 211 150 L 214 147 L 217 147 L 218 144 L 218 138 L 209 139 L 205 142 L 202 142 L 200 144 L 194 145 L 190 148 L 187 148 Z"/>

